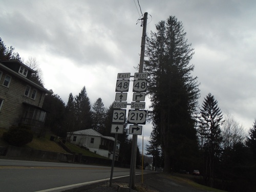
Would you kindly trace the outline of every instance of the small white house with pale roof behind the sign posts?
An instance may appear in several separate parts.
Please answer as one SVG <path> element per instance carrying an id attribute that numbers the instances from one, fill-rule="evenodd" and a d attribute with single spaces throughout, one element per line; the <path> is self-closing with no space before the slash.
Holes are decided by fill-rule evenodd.
<path id="1" fill-rule="evenodd" d="M 106 158 L 113 159 L 115 138 L 103 136 L 93 129 L 80 130 L 67 133 L 70 142 L 87 147 L 91 152 Z M 117 141 L 115 160 L 118 160 L 120 142 Z"/>

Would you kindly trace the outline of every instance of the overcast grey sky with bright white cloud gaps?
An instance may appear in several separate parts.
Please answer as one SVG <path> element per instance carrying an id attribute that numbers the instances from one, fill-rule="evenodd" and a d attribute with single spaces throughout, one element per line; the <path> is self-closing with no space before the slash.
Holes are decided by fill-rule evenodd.
<path id="1" fill-rule="evenodd" d="M 36 58 L 45 88 L 65 103 L 85 86 L 91 104 L 100 97 L 108 108 L 117 74 L 138 72 L 140 16 L 148 13 L 148 37 L 157 23 L 176 16 L 195 51 L 190 63 L 199 106 L 211 93 L 247 132 L 256 118 L 255 10 L 254 0 L 0 0 L 0 37 L 24 61 Z M 151 131 L 150 123 L 143 125 L 144 144 Z"/>

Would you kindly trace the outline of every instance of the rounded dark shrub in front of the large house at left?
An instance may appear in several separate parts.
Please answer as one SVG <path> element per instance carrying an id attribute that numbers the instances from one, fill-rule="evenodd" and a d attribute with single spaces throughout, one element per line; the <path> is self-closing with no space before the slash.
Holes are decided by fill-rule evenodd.
<path id="1" fill-rule="evenodd" d="M 3 139 L 11 145 L 23 146 L 33 140 L 33 133 L 28 127 L 10 127 Z"/>

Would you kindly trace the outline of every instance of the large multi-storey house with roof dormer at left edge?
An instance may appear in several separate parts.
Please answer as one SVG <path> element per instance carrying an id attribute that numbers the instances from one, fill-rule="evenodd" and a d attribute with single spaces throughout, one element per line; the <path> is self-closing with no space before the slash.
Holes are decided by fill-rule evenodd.
<path id="1" fill-rule="evenodd" d="M 44 129 L 42 104 L 51 92 L 31 80 L 34 73 L 18 60 L 0 61 L 0 127 L 28 125 L 34 133 Z"/>

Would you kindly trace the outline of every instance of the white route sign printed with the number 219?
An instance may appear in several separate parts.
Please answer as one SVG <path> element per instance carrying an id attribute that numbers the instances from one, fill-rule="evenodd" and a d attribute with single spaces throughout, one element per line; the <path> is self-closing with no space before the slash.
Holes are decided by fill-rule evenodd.
<path id="1" fill-rule="evenodd" d="M 146 110 L 129 110 L 128 123 L 146 124 Z"/>

